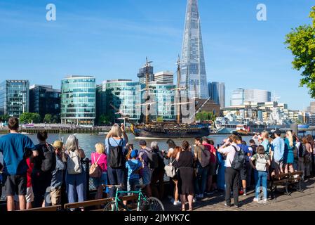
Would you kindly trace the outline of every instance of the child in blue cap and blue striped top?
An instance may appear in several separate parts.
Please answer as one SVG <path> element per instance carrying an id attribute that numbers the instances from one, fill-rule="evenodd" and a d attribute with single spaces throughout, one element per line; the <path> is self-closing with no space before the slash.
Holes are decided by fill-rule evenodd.
<path id="1" fill-rule="evenodd" d="M 130 160 L 126 162 L 126 168 L 128 169 L 128 191 L 138 191 L 135 190 L 135 186 L 140 184 L 139 169 L 142 168 L 142 162 L 140 162 L 140 160 L 137 160 L 137 158 L 138 150 L 133 150 L 130 153 Z"/>

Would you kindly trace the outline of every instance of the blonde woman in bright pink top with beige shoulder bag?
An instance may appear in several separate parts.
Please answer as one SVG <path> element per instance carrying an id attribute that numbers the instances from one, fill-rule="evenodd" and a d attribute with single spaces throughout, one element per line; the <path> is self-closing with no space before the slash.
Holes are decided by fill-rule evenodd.
<path id="1" fill-rule="evenodd" d="M 96 190 L 98 190 L 95 199 L 102 199 L 102 185 L 107 185 L 107 156 L 105 154 L 105 146 L 103 143 L 97 143 L 95 145 L 95 153 L 91 154 L 91 163 L 92 165 L 97 165 L 102 171 L 100 177 L 92 177 L 93 184 Z"/>

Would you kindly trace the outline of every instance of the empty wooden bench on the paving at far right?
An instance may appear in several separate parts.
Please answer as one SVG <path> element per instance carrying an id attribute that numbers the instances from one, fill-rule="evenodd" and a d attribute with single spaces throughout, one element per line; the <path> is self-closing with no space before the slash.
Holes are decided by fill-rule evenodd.
<path id="1" fill-rule="evenodd" d="M 270 191 L 272 198 L 274 198 L 274 193 L 277 191 L 277 186 L 284 186 L 286 189 L 286 195 L 290 195 L 289 187 L 292 185 L 298 185 L 297 191 L 302 192 L 302 171 L 288 173 L 288 174 L 279 174 L 278 177 L 273 177 L 270 181 Z"/>

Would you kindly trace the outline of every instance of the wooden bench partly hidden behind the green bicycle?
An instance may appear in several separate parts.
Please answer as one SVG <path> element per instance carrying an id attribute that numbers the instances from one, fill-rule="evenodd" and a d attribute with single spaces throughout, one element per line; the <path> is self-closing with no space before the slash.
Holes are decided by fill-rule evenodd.
<path id="1" fill-rule="evenodd" d="M 124 196 L 123 198 L 120 198 L 123 201 L 129 201 L 129 200 L 136 200 L 138 199 L 138 196 L 136 195 L 130 195 L 130 196 Z M 99 199 L 99 200 L 91 200 L 91 201 L 86 201 L 82 203 L 68 203 L 65 204 L 65 210 L 70 210 L 70 209 L 76 209 L 76 208 L 82 208 L 82 207 L 97 207 L 101 205 L 106 205 L 107 203 L 110 203 L 114 201 L 114 198 L 104 198 L 104 199 Z M 92 211 L 102 211 L 101 210 L 92 210 Z"/>

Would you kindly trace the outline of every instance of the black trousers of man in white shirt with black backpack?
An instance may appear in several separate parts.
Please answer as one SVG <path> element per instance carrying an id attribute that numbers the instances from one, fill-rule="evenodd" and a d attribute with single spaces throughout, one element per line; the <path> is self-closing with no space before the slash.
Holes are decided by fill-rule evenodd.
<path id="1" fill-rule="evenodd" d="M 231 205 L 231 189 L 233 188 L 234 205 L 239 205 L 239 171 L 232 167 L 226 167 L 225 173 L 225 202 Z"/>

